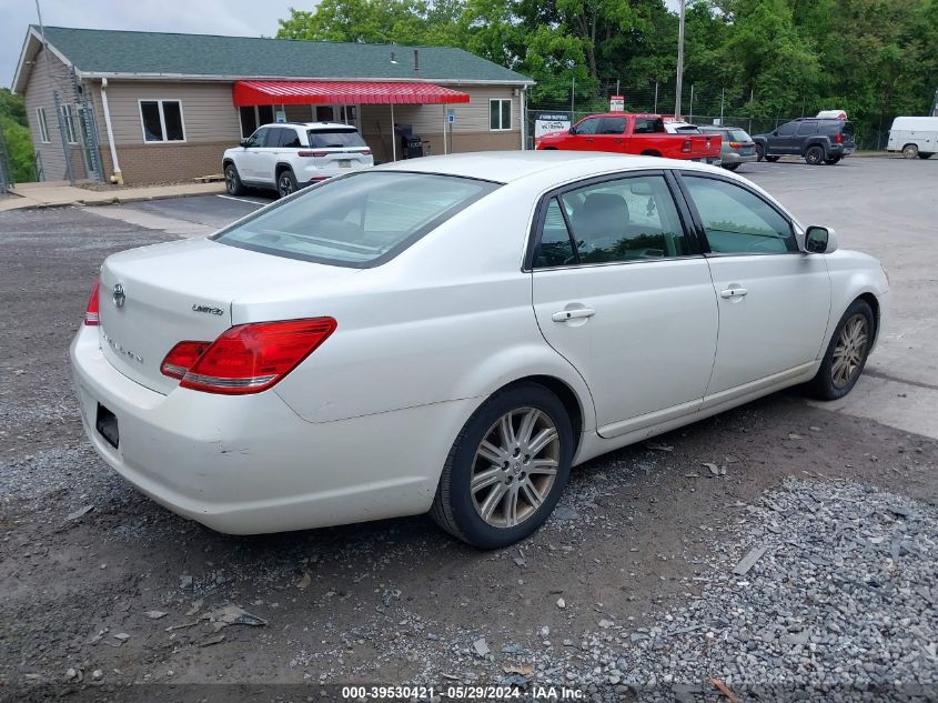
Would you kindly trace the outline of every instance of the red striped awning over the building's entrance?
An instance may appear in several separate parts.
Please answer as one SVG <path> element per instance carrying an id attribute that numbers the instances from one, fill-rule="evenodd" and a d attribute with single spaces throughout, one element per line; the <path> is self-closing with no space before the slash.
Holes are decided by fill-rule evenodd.
<path id="1" fill-rule="evenodd" d="M 234 106 L 452 104 L 470 97 L 432 83 L 235 81 Z"/>

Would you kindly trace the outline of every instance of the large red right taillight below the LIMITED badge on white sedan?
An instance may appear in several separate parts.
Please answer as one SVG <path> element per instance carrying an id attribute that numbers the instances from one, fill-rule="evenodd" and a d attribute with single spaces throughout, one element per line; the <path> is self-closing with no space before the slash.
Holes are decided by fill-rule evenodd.
<path id="1" fill-rule="evenodd" d="M 206 393 L 264 391 L 293 371 L 335 331 L 332 318 L 239 324 L 214 342 L 180 342 L 160 370 L 180 386 Z M 205 349 L 199 352 L 199 345 Z M 189 365 L 185 365 L 189 364 Z"/>

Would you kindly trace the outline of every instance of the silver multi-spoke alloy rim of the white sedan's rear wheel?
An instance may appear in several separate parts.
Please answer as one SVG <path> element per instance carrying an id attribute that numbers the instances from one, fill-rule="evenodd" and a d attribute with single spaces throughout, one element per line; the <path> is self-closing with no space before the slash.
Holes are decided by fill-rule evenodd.
<path id="1" fill-rule="evenodd" d="M 472 502 L 494 528 L 514 528 L 534 515 L 557 476 L 561 439 L 536 408 L 502 415 L 485 433 L 472 468 Z"/>

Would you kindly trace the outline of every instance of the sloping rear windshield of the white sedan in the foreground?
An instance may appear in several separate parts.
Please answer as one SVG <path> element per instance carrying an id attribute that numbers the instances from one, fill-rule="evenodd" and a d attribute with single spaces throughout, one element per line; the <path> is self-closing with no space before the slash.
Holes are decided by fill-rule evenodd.
<path id="1" fill-rule="evenodd" d="M 365 171 L 325 181 L 213 239 L 288 259 L 370 268 L 496 188 L 454 175 Z"/>

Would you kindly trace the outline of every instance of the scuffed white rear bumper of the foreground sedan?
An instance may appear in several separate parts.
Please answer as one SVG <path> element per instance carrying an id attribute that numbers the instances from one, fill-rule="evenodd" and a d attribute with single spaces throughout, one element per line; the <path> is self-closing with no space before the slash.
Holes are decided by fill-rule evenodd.
<path id="1" fill-rule="evenodd" d="M 162 395 L 114 369 L 93 328 L 75 335 L 71 363 L 101 458 L 161 505 L 232 534 L 426 512 L 455 434 L 424 429 L 460 426 L 472 412 L 472 401 L 453 401 L 310 423 L 272 391 Z M 117 418 L 117 448 L 95 429 L 99 404 Z"/>

